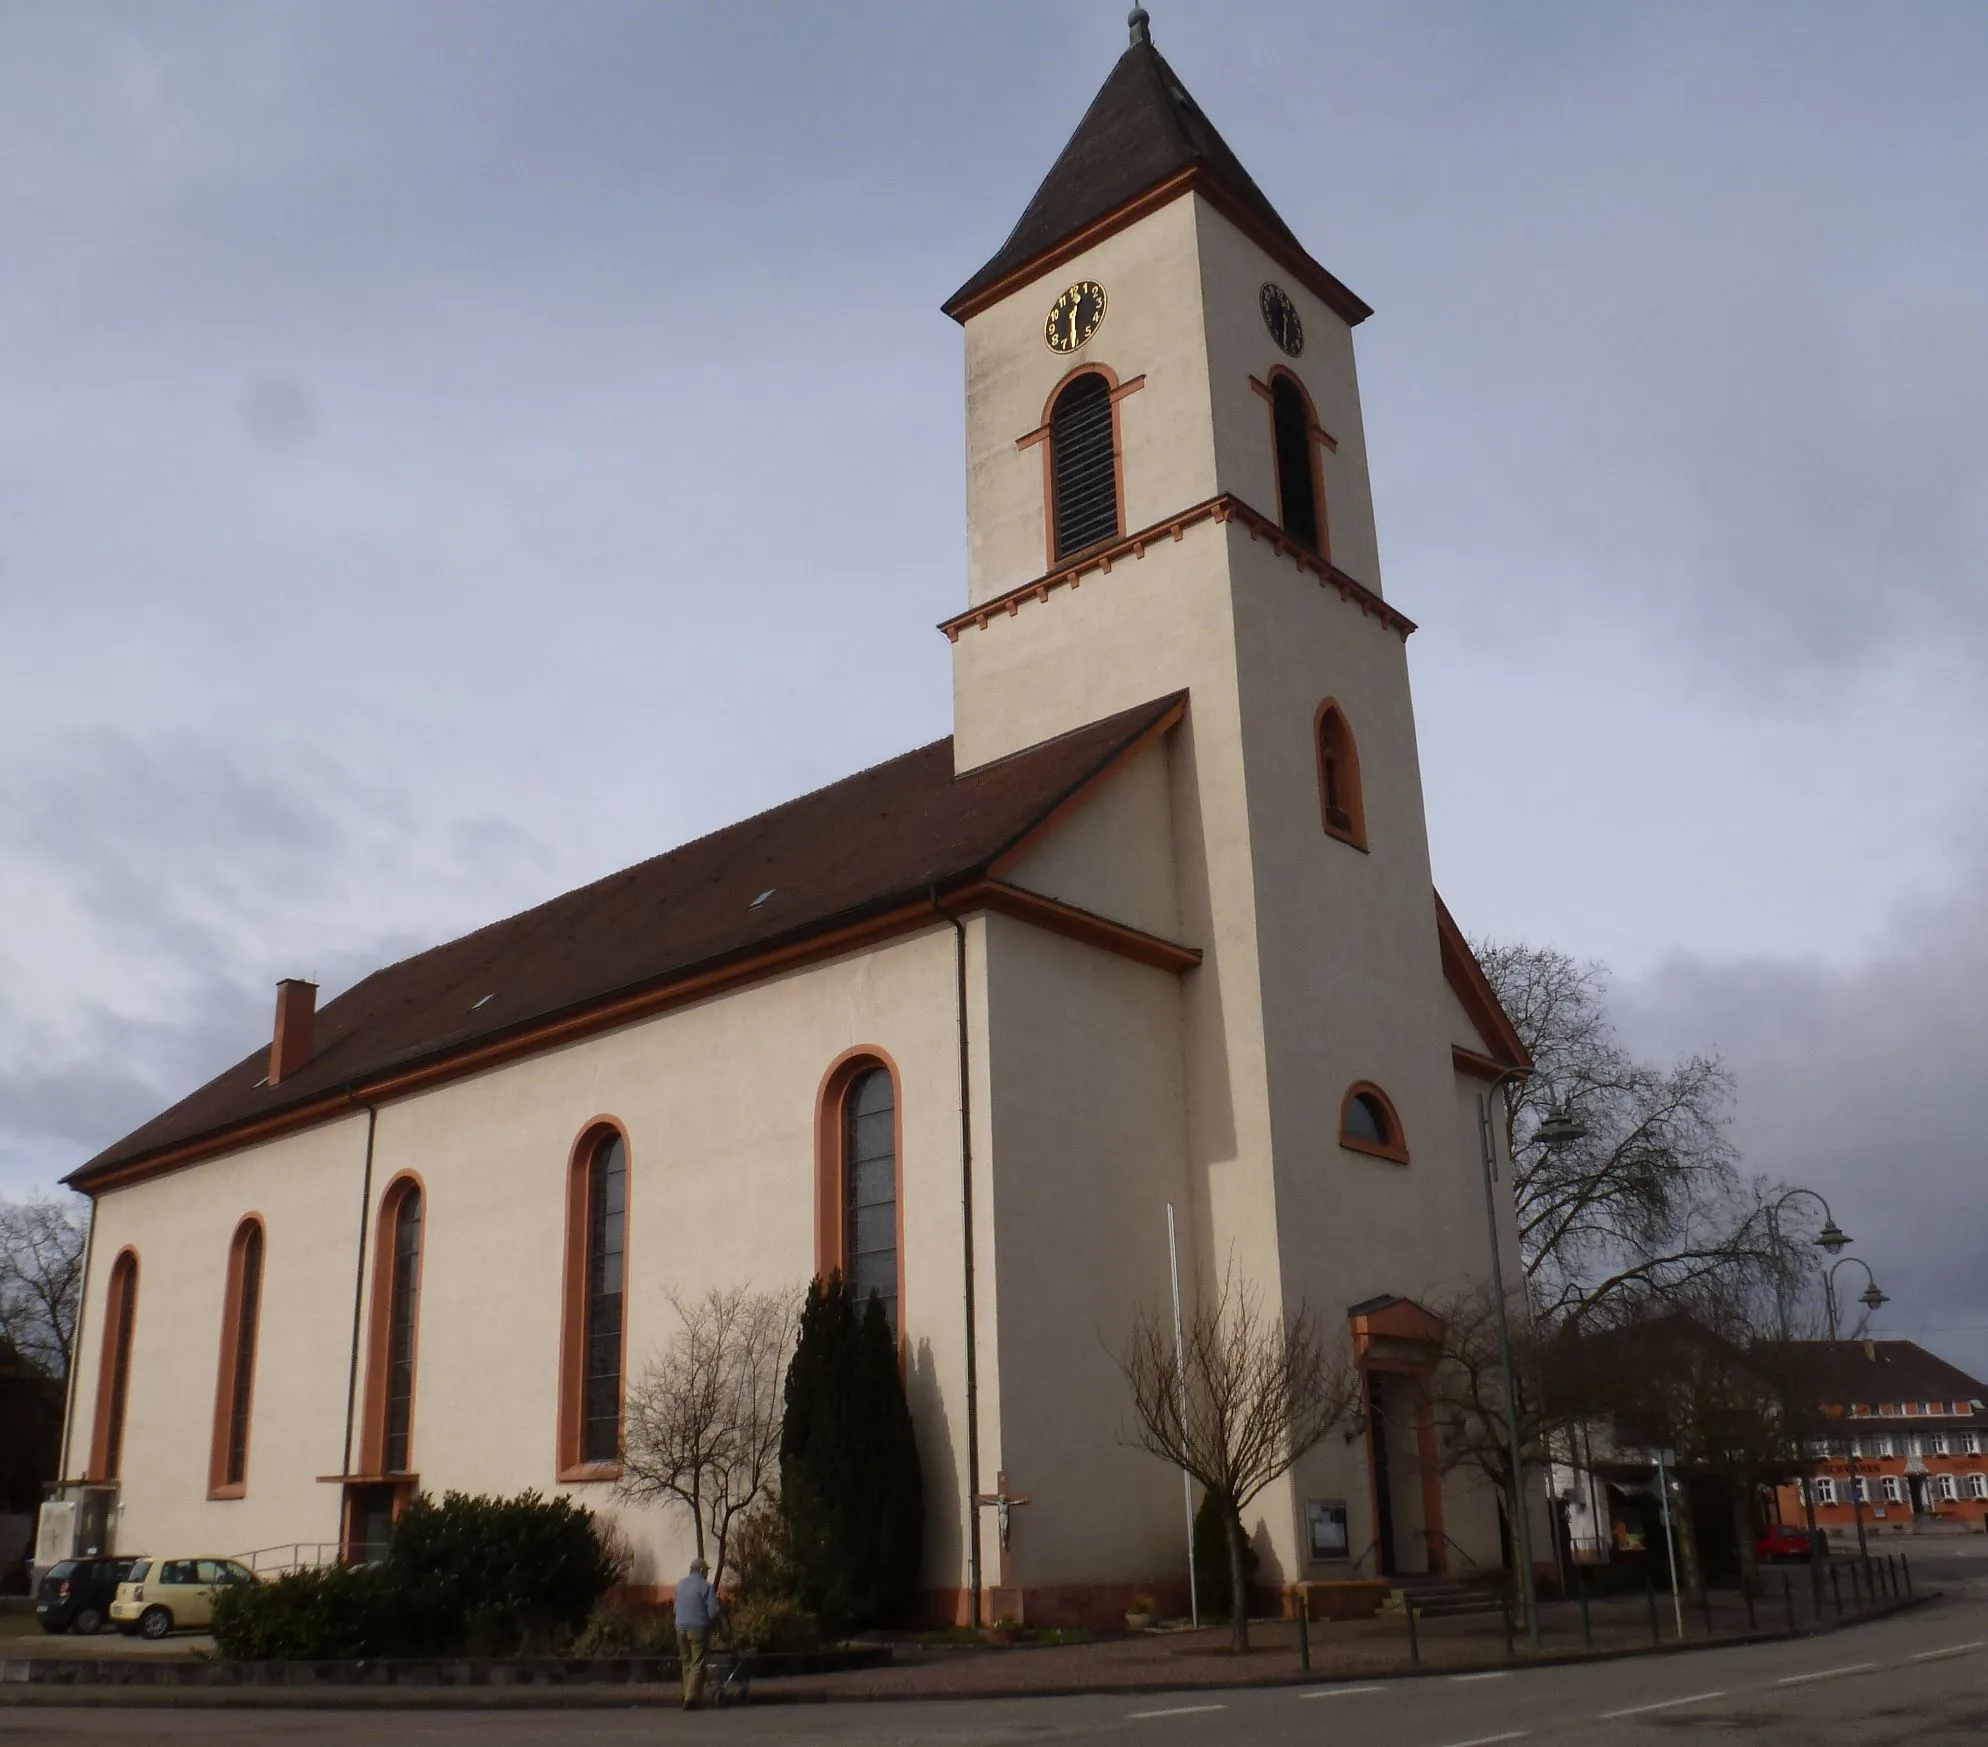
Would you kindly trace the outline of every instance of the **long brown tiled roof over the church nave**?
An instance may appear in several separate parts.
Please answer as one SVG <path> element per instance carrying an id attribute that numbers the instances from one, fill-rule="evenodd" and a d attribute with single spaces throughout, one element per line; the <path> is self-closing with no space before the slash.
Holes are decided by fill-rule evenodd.
<path id="1" fill-rule="evenodd" d="M 260 1043 L 68 1183 L 91 1189 L 155 1155 L 322 1105 L 348 1087 L 364 1091 L 415 1063 L 972 882 L 1179 704 L 1175 696 L 1127 710 L 964 777 L 952 775 L 952 741 L 936 739 L 376 970 L 318 1012 L 310 1059 L 280 1087 L 266 1083 Z"/>

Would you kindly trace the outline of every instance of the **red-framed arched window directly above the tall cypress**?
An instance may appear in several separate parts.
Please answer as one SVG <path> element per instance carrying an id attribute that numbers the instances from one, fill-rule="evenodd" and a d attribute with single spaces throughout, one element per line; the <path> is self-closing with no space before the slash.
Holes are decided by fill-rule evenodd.
<path id="1" fill-rule="evenodd" d="M 839 1272 L 857 1306 L 883 1300 L 901 1330 L 897 1071 L 851 1051 L 821 1083 L 815 1268 Z"/>

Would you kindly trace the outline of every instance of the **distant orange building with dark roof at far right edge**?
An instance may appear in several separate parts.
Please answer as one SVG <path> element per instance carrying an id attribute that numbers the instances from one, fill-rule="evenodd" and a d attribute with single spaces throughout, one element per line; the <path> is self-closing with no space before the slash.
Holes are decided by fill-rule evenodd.
<path id="1" fill-rule="evenodd" d="M 1827 1411 L 1841 1431 L 1809 1447 L 1805 1481 L 1779 1489 L 1783 1522 L 1815 1522 L 1833 1538 L 1988 1526 L 1988 1385 L 1916 1342 L 1813 1342 Z"/>

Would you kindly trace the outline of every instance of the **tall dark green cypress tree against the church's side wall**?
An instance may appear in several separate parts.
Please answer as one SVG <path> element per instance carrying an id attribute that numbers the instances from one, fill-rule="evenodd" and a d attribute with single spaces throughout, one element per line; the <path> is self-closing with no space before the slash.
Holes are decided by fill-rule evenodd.
<path id="1" fill-rule="evenodd" d="M 897 1342 L 839 1274 L 807 1288 L 787 1367 L 779 1509 L 803 1608 L 831 1630 L 909 1622 L 924 1550 L 924 1485 Z"/>

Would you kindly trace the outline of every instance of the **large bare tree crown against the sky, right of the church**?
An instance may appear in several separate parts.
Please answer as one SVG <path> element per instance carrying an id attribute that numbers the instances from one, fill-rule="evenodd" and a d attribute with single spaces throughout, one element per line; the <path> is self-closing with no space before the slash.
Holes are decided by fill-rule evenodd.
<path id="1" fill-rule="evenodd" d="M 1535 1071 L 1507 1093 L 1513 1200 L 1533 1310 L 1573 1326 L 1618 1300 L 1751 1280 L 1781 1302 L 1813 1274 L 1799 1214 L 1740 1169 L 1724 1063 L 1636 1061 L 1606 1012 L 1598 964 L 1547 946 L 1479 942 L 1477 958 Z M 1549 1109 L 1582 1139 L 1543 1145 Z"/>

